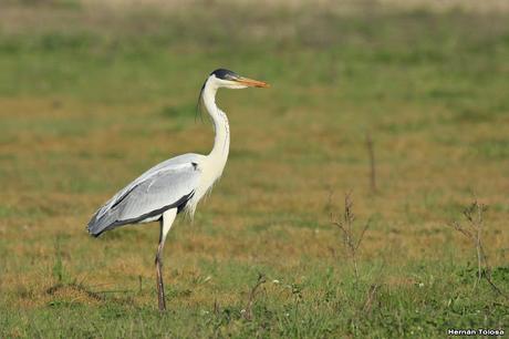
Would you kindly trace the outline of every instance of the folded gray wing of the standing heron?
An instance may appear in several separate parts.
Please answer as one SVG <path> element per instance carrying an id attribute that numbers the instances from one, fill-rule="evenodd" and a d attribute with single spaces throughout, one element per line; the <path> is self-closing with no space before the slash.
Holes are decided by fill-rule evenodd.
<path id="1" fill-rule="evenodd" d="M 89 222 L 89 233 L 98 236 L 122 225 L 157 217 L 169 208 L 180 210 L 198 185 L 201 157 L 184 154 L 152 167 L 97 209 Z"/>

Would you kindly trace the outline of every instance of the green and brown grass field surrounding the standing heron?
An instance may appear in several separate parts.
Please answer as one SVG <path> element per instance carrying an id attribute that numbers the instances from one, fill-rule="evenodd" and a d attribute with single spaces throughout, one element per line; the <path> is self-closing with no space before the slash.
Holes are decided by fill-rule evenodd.
<path id="1" fill-rule="evenodd" d="M 507 333 L 508 22 L 376 6 L 0 4 L 0 337 Z M 196 100 L 219 66 L 272 88 L 219 93 L 229 162 L 168 236 L 160 314 L 158 225 L 98 239 L 85 225 L 149 166 L 209 152 Z M 357 234 L 370 223 L 357 278 L 331 223 L 349 192 Z M 476 284 L 476 247 L 450 227 L 476 198 L 501 295 Z"/>

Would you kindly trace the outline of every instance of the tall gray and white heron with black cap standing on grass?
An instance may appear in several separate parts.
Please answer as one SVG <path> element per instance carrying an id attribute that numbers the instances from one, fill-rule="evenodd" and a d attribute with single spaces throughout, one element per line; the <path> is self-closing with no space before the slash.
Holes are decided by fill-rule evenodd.
<path id="1" fill-rule="evenodd" d="M 198 97 L 199 105 L 205 106 L 214 124 L 215 140 L 210 153 L 187 153 L 155 165 L 101 206 L 86 226 L 90 235 L 98 237 L 124 225 L 159 222 L 155 266 L 158 309 L 162 311 L 166 310 L 162 270 L 166 236 L 179 213 L 185 212 L 193 218 L 199 201 L 221 177 L 228 158 L 230 127 L 226 113 L 216 105 L 216 93 L 219 89 L 269 86 L 263 81 L 226 69 L 211 72 Z"/>

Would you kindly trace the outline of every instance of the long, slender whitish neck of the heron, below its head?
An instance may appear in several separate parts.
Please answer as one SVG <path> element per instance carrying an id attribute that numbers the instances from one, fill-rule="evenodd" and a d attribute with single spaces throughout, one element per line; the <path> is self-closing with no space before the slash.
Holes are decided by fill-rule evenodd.
<path id="1" fill-rule="evenodd" d="M 214 147 L 208 156 L 215 162 L 221 164 L 222 172 L 222 166 L 226 164 L 228 152 L 230 150 L 230 127 L 228 125 L 228 117 L 226 116 L 225 112 L 219 110 L 219 107 L 216 105 L 217 90 L 217 86 L 214 86 L 210 84 L 210 82 L 207 82 L 204 89 L 202 100 L 208 114 L 210 114 L 212 117 L 214 130 L 216 132 Z"/>

